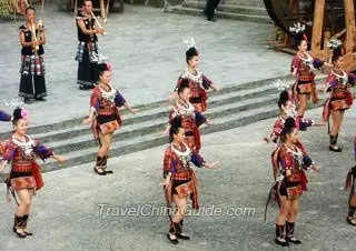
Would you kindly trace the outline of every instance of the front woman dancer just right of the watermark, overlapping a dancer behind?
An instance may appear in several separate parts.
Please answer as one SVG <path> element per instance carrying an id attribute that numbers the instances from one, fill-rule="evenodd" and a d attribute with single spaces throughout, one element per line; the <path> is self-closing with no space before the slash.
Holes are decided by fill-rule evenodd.
<path id="1" fill-rule="evenodd" d="M 299 198 L 307 191 L 307 177 L 305 170 L 319 171 L 307 153 L 298 147 L 298 129 L 295 121 L 288 118 L 281 132 L 283 143 L 273 155 L 275 198 L 279 202 L 279 213 L 276 222 L 275 242 L 287 247 L 288 242 L 300 244 L 294 237 L 295 223 L 299 210 Z M 285 233 L 286 230 L 286 233 Z"/>

